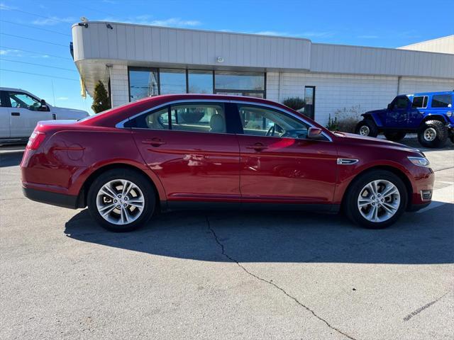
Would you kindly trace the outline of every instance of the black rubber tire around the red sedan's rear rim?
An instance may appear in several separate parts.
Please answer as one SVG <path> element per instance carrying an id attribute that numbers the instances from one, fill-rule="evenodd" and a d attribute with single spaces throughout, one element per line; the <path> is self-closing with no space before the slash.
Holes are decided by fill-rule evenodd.
<path id="1" fill-rule="evenodd" d="M 141 215 L 131 223 L 116 225 L 104 219 L 96 207 L 96 196 L 104 184 L 109 181 L 125 179 L 134 183 L 140 191 L 143 193 L 144 205 Z M 156 194 L 153 189 L 152 183 L 139 171 L 133 171 L 131 169 L 111 169 L 101 175 L 99 175 L 92 183 L 87 194 L 87 204 L 90 215 L 99 223 L 102 227 L 110 230 L 111 232 L 131 232 L 135 229 L 140 228 L 150 220 L 156 207 Z"/>

